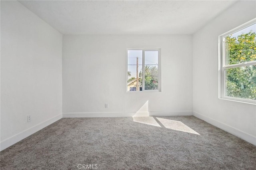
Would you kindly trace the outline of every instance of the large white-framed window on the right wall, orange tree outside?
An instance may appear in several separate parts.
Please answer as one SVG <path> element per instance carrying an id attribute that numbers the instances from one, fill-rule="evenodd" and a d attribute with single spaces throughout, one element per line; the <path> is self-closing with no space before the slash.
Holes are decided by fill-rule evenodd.
<path id="1" fill-rule="evenodd" d="M 256 104 L 256 19 L 219 36 L 219 98 Z"/>

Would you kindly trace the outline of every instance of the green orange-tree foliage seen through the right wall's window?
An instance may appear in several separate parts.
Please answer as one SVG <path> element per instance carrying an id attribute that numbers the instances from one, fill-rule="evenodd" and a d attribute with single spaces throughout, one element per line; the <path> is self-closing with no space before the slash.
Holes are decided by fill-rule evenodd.
<path id="1" fill-rule="evenodd" d="M 256 60 L 256 33 L 226 37 L 228 65 Z M 226 69 L 226 95 L 256 100 L 256 65 Z"/>

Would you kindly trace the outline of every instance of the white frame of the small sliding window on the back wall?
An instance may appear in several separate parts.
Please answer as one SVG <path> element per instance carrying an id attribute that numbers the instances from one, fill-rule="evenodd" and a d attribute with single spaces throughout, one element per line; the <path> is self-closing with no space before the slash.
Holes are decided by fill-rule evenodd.
<path id="1" fill-rule="evenodd" d="M 143 70 L 143 76 L 142 76 L 142 91 L 128 91 L 127 90 L 127 71 L 128 71 L 128 51 L 129 50 L 141 50 L 142 51 L 142 70 Z M 145 51 L 158 51 L 158 90 L 145 90 L 144 89 L 144 67 L 145 67 Z M 161 92 L 161 48 L 127 48 L 126 49 L 126 92 L 127 93 L 141 93 L 141 92 Z"/>

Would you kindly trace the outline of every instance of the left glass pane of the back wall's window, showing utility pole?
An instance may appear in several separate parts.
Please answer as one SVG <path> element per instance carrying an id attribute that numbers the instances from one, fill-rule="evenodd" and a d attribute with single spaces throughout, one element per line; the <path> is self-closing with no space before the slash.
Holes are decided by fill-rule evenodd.
<path id="1" fill-rule="evenodd" d="M 142 87 L 142 50 L 128 50 L 127 91 Z"/>

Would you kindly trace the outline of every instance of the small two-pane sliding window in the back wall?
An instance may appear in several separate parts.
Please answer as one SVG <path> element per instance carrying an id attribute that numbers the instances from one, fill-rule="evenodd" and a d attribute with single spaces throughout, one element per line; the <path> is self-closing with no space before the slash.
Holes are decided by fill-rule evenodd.
<path id="1" fill-rule="evenodd" d="M 160 91 L 160 49 L 127 49 L 127 91 Z"/>

